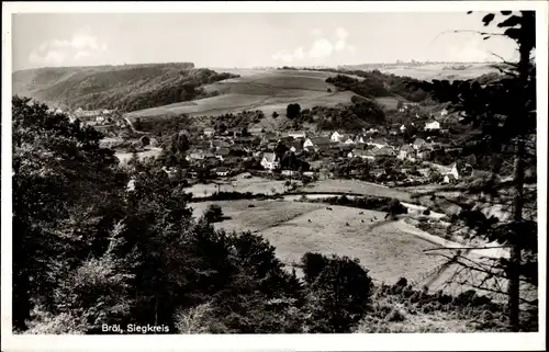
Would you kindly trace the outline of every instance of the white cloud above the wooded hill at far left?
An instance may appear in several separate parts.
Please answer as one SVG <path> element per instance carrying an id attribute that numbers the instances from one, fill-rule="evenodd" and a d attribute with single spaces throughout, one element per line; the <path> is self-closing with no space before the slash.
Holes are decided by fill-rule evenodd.
<path id="1" fill-rule="evenodd" d="M 101 43 L 89 27 L 81 29 L 70 38 L 53 38 L 33 49 L 29 60 L 37 66 L 70 65 L 107 52 L 107 43 Z"/>

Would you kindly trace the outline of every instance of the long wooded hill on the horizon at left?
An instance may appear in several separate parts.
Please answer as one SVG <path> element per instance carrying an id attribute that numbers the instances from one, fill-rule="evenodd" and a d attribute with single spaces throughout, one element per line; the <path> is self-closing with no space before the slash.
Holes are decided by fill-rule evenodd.
<path id="1" fill-rule="evenodd" d="M 13 94 L 70 110 L 121 111 L 210 96 L 202 86 L 235 77 L 191 63 L 38 68 L 12 75 Z"/>

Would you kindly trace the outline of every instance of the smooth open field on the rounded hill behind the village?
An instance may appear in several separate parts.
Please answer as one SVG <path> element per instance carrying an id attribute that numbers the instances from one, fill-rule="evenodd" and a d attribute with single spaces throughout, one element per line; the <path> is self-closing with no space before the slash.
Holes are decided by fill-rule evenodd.
<path id="1" fill-rule="evenodd" d="M 220 115 L 243 110 L 261 110 L 267 116 L 273 112 L 283 115 L 289 103 L 299 102 L 302 109 L 315 105 L 333 106 L 350 103 L 350 92 L 335 92 L 324 80 L 334 73 L 299 70 L 271 70 L 227 79 L 210 86 L 206 91 L 221 95 L 176 103 L 128 113 L 127 117 L 150 117 L 167 114 Z M 328 89 L 332 92 L 328 92 Z"/>

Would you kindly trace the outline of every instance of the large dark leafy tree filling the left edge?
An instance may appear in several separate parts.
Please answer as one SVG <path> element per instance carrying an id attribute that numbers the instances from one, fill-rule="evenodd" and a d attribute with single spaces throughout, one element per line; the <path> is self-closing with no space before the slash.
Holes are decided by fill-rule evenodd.
<path id="1" fill-rule="evenodd" d="M 127 177 L 102 135 L 44 104 L 13 96 L 13 327 L 35 307 L 59 309 L 54 292 L 100 256 Z"/>

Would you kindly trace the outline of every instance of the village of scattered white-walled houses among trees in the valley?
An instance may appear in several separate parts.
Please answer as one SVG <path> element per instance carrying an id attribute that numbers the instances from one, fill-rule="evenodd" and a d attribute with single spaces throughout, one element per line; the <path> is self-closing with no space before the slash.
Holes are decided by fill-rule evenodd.
<path id="1" fill-rule="evenodd" d="M 417 103 L 401 104 L 393 113 L 412 116 L 407 120 L 412 122 L 371 125 L 355 134 L 205 127 L 188 136 L 187 162 L 165 166 L 164 170 L 170 179 L 191 183 L 246 173 L 278 180 L 360 179 L 386 186 L 451 184 L 485 174 L 473 169 L 474 160 L 463 162 L 452 157 L 460 148 L 450 136 L 451 124 L 445 122 L 447 110 L 437 115 L 418 112 Z M 143 158 L 163 150 L 157 138 L 137 130 L 116 111 L 77 109 L 69 116 L 102 132 L 103 147 L 119 150 L 122 162 L 134 152 Z M 437 162 L 440 155 L 450 162 Z M 349 163 L 352 166 L 345 168 Z"/>

